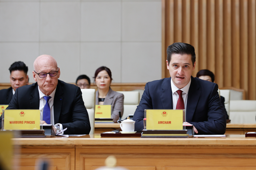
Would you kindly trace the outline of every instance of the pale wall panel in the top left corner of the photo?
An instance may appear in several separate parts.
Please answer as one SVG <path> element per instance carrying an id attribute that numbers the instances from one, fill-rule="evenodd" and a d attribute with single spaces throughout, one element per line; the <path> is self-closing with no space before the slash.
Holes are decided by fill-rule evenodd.
<path id="1" fill-rule="evenodd" d="M 38 41 L 39 2 L 1 2 L 0 41 Z"/>

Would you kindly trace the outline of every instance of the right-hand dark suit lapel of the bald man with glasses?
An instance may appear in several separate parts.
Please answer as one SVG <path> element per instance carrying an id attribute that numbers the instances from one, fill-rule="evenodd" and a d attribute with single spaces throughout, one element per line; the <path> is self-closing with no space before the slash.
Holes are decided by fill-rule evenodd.
<path id="1" fill-rule="evenodd" d="M 54 111 L 54 124 L 56 122 L 59 122 L 60 114 L 61 114 L 61 107 L 62 107 L 62 102 L 64 100 L 63 96 L 63 90 L 61 87 L 60 82 L 58 81 L 58 85 L 55 91 L 54 95 L 54 102 L 53 102 L 53 111 Z"/>

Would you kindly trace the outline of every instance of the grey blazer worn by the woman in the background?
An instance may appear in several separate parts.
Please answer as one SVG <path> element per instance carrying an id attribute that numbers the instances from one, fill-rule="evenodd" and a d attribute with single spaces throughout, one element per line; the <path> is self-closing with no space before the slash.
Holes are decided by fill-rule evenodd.
<path id="1" fill-rule="evenodd" d="M 99 91 L 96 91 L 96 105 L 99 104 Z M 103 105 L 112 105 L 112 114 L 113 122 L 117 122 L 119 119 L 118 111 L 121 110 L 121 115 L 124 113 L 124 94 L 113 91 L 109 88 L 107 96 L 104 99 Z"/>

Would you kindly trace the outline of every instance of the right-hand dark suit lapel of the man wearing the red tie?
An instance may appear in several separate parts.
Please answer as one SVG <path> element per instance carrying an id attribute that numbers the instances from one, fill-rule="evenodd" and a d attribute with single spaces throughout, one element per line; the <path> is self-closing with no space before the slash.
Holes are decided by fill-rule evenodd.
<path id="1" fill-rule="evenodd" d="M 195 78 L 191 76 L 191 84 L 187 100 L 186 121 L 192 121 L 200 95 L 200 86 L 197 84 Z"/>

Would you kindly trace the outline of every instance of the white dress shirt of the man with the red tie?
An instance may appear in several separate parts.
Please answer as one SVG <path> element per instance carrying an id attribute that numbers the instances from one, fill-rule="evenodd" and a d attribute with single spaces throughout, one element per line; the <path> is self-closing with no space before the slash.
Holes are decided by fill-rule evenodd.
<path id="1" fill-rule="evenodd" d="M 179 89 L 178 87 L 176 87 L 173 84 L 173 81 L 171 80 L 172 107 L 173 107 L 173 109 L 176 109 L 176 105 L 177 105 L 178 98 L 179 98 L 177 90 L 181 90 L 182 91 L 182 98 L 183 98 L 183 101 L 184 101 L 184 108 L 186 110 L 190 84 L 191 84 L 191 78 L 190 78 L 189 83 L 185 87 L 183 87 L 182 89 Z"/>

